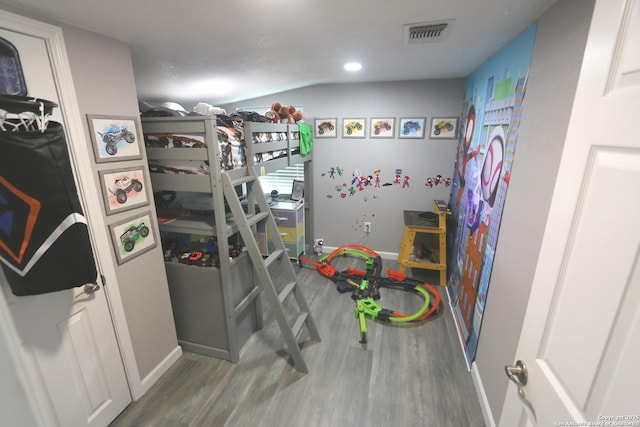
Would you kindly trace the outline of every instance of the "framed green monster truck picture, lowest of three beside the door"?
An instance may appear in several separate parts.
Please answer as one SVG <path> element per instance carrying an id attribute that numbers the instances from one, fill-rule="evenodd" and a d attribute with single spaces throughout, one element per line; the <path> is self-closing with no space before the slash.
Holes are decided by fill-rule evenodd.
<path id="1" fill-rule="evenodd" d="M 158 242 L 153 230 L 149 212 L 109 225 L 118 264 L 130 261 L 156 247 Z"/>

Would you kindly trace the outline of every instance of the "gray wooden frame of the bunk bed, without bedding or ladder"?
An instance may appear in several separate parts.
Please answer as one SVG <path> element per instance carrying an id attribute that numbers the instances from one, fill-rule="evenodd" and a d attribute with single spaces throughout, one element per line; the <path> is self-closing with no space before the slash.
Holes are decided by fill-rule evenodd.
<path id="1" fill-rule="evenodd" d="M 223 192 L 223 174 L 231 180 L 242 179 L 247 168 L 255 174 L 271 173 L 297 163 L 307 162 L 310 156 L 293 154 L 299 151 L 298 126 L 293 124 L 244 123 L 246 167 L 223 170 L 216 116 L 149 117 L 142 118 L 147 134 L 199 135 L 206 148 L 146 147 L 147 159 L 196 160 L 209 164 L 209 175 L 150 173 L 154 192 L 167 190 L 210 194 L 213 213 L 179 218 L 160 224 L 161 232 L 215 236 L 220 266 L 197 267 L 165 263 L 174 311 L 178 342 L 187 351 L 205 354 L 233 363 L 246 340 L 262 329 L 263 313 L 259 301 L 261 289 L 256 283 L 251 260 L 246 253 L 229 258 L 229 238 L 238 233 L 233 215 L 227 212 Z M 254 143 L 256 133 L 282 133 L 280 141 Z M 266 153 L 286 150 L 286 156 L 254 163 L 254 158 Z M 249 268 L 246 268 L 249 267 Z"/>

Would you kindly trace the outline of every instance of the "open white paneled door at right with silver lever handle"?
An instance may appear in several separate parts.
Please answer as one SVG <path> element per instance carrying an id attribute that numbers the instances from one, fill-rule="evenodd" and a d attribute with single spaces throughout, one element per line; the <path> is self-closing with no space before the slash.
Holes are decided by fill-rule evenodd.
<path id="1" fill-rule="evenodd" d="M 640 425 L 639 129 L 640 5 L 597 0 L 500 426 Z"/>

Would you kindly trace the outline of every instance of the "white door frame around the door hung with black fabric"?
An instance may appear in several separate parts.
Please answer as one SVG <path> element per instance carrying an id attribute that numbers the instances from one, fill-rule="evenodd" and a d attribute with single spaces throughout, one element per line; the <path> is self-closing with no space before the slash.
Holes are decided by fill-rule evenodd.
<path id="1" fill-rule="evenodd" d="M 88 130 L 85 130 L 85 124 L 82 121 L 78 106 L 62 28 L 4 10 L 0 10 L 0 27 L 8 31 L 39 38 L 45 43 L 60 104 L 62 122 L 66 129 L 69 157 L 73 165 L 74 175 L 76 178 L 78 176 L 93 176 L 93 170 L 91 169 L 93 158 L 89 152 L 88 144 L 86 144 Z M 76 179 L 76 185 L 89 225 L 89 235 L 93 244 L 98 271 L 103 277 L 102 289 L 105 292 L 109 307 L 110 321 L 115 330 L 129 392 L 135 400 L 144 394 L 147 387 L 140 380 L 124 306 L 117 286 L 116 266 L 111 257 L 109 235 L 101 212 L 102 200 L 99 199 L 100 191 L 93 188 L 95 185 L 94 180 Z M 3 320 L 0 322 L 0 339 L 4 339 L 7 347 L 11 350 L 11 356 L 15 364 L 14 369 L 22 378 L 22 386 L 25 389 L 28 405 L 31 407 L 34 417 L 41 421 L 43 425 L 56 425 L 55 413 L 51 408 L 46 388 L 39 376 L 35 361 L 28 357 L 22 346 L 8 301 L 3 292 L 0 292 L 0 319 Z"/>

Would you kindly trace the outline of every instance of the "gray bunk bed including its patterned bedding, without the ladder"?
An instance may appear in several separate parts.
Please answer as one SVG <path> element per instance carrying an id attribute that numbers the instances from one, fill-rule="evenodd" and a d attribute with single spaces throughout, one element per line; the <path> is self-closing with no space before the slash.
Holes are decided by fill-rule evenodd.
<path id="1" fill-rule="evenodd" d="M 251 260 L 225 206 L 222 174 L 238 179 L 252 167 L 264 175 L 310 156 L 300 154 L 294 124 L 143 117 L 142 128 L 178 341 L 187 351 L 235 363 L 262 328 L 262 313 Z"/>

